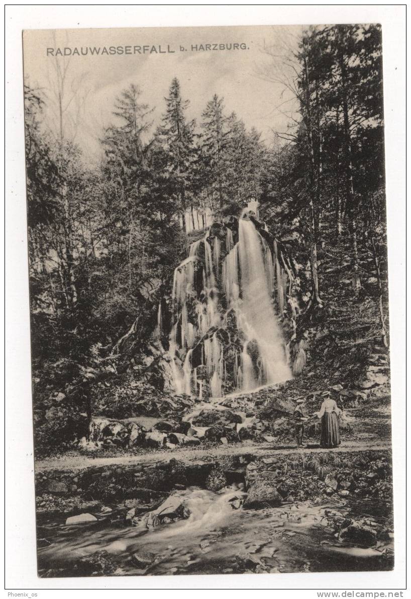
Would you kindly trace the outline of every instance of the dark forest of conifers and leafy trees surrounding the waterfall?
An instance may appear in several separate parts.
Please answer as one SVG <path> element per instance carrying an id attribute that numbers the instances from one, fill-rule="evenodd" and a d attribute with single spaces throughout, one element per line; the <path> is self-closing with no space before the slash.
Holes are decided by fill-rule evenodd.
<path id="1" fill-rule="evenodd" d="M 360 335 L 354 361 L 367 348 L 386 352 L 381 40 L 378 25 L 335 25 L 306 29 L 281 59 L 268 48 L 271 66 L 261 77 L 281 82 L 297 107 L 272 143 L 220 95 L 198 122 L 188 119 L 190 98 L 178 77 L 154 125 L 153 107 L 142 101 L 150 83 L 136 81 L 118 90 L 95 164 L 69 135 L 65 72 L 57 73 L 53 97 L 26 80 L 38 453 L 87 437 L 108 394 L 125 412 L 136 395 L 165 395 L 156 373 L 145 374 L 147 348 L 156 339 L 169 349 L 173 273 L 198 238 L 198 215 L 224 221 L 258 202 L 258 222 L 294 273 L 278 313 L 296 378 L 318 360 L 329 367 L 330 356 L 314 351 L 324 331 L 342 354 L 346 335 Z M 44 118 L 51 102 L 54 126 Z"/>

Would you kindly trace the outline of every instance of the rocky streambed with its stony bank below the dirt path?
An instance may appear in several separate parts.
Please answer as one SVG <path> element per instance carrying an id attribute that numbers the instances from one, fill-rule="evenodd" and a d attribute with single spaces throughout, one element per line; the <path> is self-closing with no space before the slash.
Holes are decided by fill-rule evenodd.
<path id="1" fill-rule="evenodd" d="M 391 484 L 386 450 L 38 469 L 39 575 L 390 569 Z"/>

